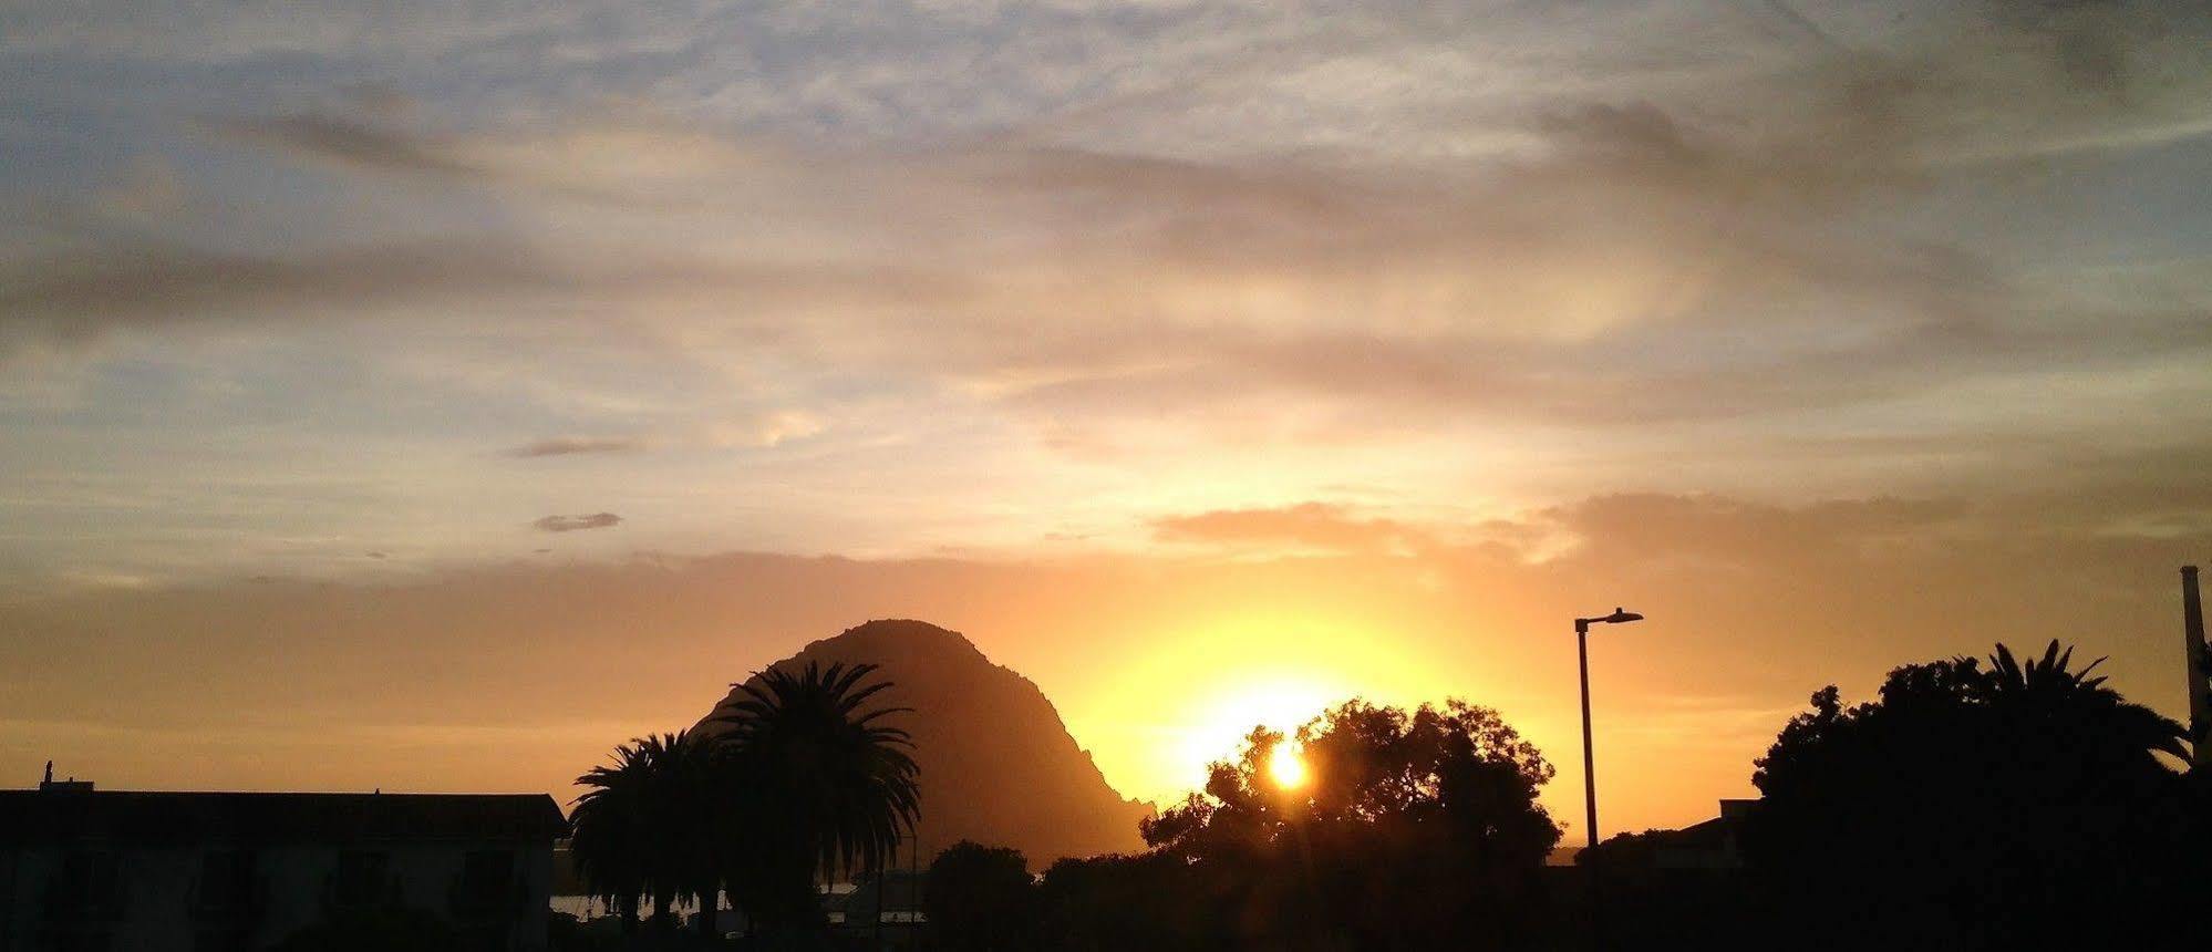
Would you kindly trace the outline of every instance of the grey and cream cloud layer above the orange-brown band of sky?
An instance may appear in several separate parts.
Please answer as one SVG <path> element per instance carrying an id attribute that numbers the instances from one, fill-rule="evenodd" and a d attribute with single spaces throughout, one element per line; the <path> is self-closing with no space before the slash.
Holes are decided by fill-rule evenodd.
<path id="1" fill-rule="evenodd" d="M 13 584 L 498 558 L 580 496 L 1144 547 L 2212 432 L 2201 4 L 18 20 Z"/>

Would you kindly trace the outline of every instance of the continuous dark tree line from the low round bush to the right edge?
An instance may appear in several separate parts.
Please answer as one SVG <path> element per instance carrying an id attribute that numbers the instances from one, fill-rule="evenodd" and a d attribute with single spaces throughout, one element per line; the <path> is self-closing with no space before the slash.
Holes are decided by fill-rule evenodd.
<path id="1" fill-rule="evenodd" d="M 1020 852 L 962 844 L 931 866 L 929 919 L 947 952 L 2197 948 L 2208 782 L 2181 770 L 2181 726 L 2095 666 L 2000 644 L 1900 666 L 1874 702 L 1818 691 L 1723 824 L 1741 866 L 1670 866 L 1670 830 L 1613 837 L 1575 870 L 1599 875 L 1601 928 L 1590 879 L 1544 877 L 1551 766 L 1460 702 L 1254 731 L 1144 824 L 1150 850 L 1033 886 Z M 1290 742 L 1305 786 L 1270 782 Z"/>

